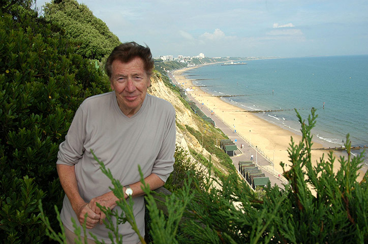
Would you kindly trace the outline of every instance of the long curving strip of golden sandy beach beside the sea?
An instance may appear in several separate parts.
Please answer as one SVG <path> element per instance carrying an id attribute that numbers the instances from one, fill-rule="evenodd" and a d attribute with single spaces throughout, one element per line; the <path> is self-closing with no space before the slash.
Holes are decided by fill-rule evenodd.
<path id="1" fill-rule="evenodd" d="M 191 80 L 182 75 L 183 72 L 198 68 L 192 67 L 172 72 L 177 83 L 183 88 L 190 88 L 193 91 L 189 92 L 191 96 L 198 102 L 203 103 L 201 109 L 209 109 L 214 112 L 213 116 L 218 116 L 220 119 L 226 122 L 226 124 L 233 127 L 236 132 L 242 137 L 246 138 L 252 144 L 264 151 L 270 159 L 274 159 L 274 169 L 278 172 L 283 172 L 280 162 L 284 162 L 288 166 L 286 170 L 290 169 L 289 156 L 287 148 L 291 142 L 291 137 L 295 143 L 299 143 L 301 136 L 291 131 L 283 129 L 277 125 L 273 125 L 266 120 L 257 117 L 253 113 L 246 112 L 235 105 L 227 103 L 218 97 L 213 97 L 210 94 L 203 92 L 199 87 L 194 87 Z M 304 118 L 307 120 L 307 118 Z M 324 147 L 322 144 L 313 142 L 312 148 Z M 327 150 L 312 150 L 312 162 L 314 165 L 320 161 L 324 154 L 324 159 L 328 158 L 329 151 Z M 337 172 L 339 167 L 338 158 L 342 155 L 339 151 L 334 151 L 335 167 L 334 172 Z M 358 180 L 362 178 L 366 169 L 361 170 Z"/>

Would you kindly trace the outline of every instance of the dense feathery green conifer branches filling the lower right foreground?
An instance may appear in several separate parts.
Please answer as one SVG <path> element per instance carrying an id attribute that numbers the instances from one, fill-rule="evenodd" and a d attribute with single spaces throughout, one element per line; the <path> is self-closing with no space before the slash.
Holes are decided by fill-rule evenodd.
<path id="1" fill-rule="evenodd" d="M 164 218 L 146 187 L 153 242 L 367 243 L 367 174 L 361 182 L 356 181 L 362 155 L 351 158 L 347 143 L 348 159 L 340 158 L 337 173 L 332 171 L 332 153 L 327 162 L 321 159 L 313 167 L 310 153 L 315 110 L 308 125 L 298 117 L 303 136 L 298 144 L 290 143 L 292 165 L 284 173 L 290 182 L 285 189 L 268 184 L 260 199 L 236 172 L 220 176 L 219 180 L 207 176 L 203 189 L 189 187 L 191 180 L 197 180 L 191 178 L 189 184 L 166 197 L 170 214 Z M 103 170 L 111 178 L 111 173 Z M 208 171 L 211 175 L 211 167 Z M 115 195 L 124 196 L 119 182 L 112 182 Z"/>

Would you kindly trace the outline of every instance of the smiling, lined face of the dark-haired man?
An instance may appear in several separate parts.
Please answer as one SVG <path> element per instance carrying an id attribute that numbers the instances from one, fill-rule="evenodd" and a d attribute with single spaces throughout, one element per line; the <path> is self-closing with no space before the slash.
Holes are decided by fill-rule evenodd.
<path id="1" fill-rule="evenodd" d="M 140 57 L 135 57 L 128 63 L 115 59 L 112 62 L 110 82 L 120 110 L 128 117 L 141 108 L 147 88 L 151 84 Z"/>

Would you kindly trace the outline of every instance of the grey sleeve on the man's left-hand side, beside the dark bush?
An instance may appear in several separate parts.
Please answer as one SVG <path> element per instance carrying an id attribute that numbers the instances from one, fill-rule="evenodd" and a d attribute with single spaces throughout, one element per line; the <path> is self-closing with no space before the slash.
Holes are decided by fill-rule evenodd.
<path id="1" fill-rule="evenodd" d="M 84 153 L 85 125 L 86 115 L 81 105 L 74 115 L 65 141 L 59 145 L 56 164 L 73 166 L 82 158 Z"/>

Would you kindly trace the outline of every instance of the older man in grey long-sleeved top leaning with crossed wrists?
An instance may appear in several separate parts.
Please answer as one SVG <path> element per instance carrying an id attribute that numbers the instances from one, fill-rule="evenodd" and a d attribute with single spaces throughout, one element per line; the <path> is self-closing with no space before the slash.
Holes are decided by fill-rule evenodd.
<path id="1" fill-rule="evenodd" d="M 173 170 L 175 150 L 175 110 L 167 101 L 147 94 L 153 67 L 148 47 L 135 42 L 117 46 L 105 66 L 113 92 L 83 101 L 59 146 L 57 172 L 66 193 L 60 216 L 71 243 L 75 237 L 71 218 L 82 224 L 86 213 L 86 227 L 100 241 L 110 242 L 102 224 L 105 216 L 96 203 L 112 209 L 118 199 L 90 149 L 125 186 L 125 198 L 132 195 L 134 215 L 144 235 L 138 165 L 150 189 L 157 189 Z M 139 243 L 129 223 L 120 224 L 119 233 L 123 243 Z M 89 234 L 87 238 L 93 239 Z"/>

